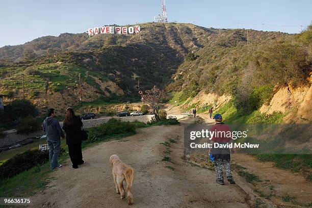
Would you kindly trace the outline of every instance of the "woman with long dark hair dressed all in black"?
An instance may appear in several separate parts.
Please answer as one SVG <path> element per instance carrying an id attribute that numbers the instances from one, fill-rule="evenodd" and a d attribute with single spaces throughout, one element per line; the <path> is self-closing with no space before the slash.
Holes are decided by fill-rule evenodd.
<path id="1" fill-rule="evenodd" d="M 66 133 L 66 144 L 68 146 L 72 168 L 74 169 L 78 168 L 78 165 L 85 163 L 81 151 L 82 126 L 83 122 L 81 121 L 81 118 L 74 114 L 72 108 L 68 108 L 63 122 L 63 129 Z"/>

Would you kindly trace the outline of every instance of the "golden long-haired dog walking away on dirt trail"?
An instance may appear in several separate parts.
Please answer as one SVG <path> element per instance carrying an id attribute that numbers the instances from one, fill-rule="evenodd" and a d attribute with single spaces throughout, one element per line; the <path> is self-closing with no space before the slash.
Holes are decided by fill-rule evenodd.
<path id="1" fill-rule="evenodd" d="M 133 168 L 123 163 L 116 154 L 111 155 L 110 163 L 112 164 L 112 173 L 117 194 L 120 194 L 121 199 L 125 198 L 125 192 L 123 189 L 124 180 L 127 185 L 128 204 L 133 204 L 133 197 L 131 193 L 131 187 L 134 180 Z"/>

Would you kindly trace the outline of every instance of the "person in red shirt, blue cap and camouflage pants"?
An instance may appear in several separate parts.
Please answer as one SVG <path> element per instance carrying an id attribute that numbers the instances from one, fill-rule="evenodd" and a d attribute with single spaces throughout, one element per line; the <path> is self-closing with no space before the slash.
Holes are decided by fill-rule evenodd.
<path id="1" fill-rule="evenodd" d="M 210 131 L 215 132 L 215 134 L 210 142 L 213 148 L 209 149 L 209 155 L 212 153 L 214 157 L 214 166 L 217 175 L 216 182 L 220 185 L 224 185 L 222 172 L 223 165 L 227 180 L 230 184 L 235 184 L 230 165 L 230 153 L 235 153 L 235 149 L 225 147 L 214 148 L 214 143 L 229 144 L 232 141 L 231 134 L 227 134 L 227 132 L 231 132 L 231 130 L 228 125 L 222 122 L 222 116 L 220 114 L 216 114 L 214 119 L 216 124 L 210 129 Z"/>

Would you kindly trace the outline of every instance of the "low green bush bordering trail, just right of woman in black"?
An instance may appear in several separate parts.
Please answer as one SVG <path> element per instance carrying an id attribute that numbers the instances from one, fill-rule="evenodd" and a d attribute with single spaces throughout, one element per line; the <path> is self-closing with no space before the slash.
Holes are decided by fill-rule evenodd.
<path id="1" fill-rule="evenodd" d="M 136 125 L 130 122 L 122 122 L 120 119 L 112 118 L 107 123 L 102 123 L 89 129 L 88 143 L 101 141 L 106 136 L 135 134 Z"/>

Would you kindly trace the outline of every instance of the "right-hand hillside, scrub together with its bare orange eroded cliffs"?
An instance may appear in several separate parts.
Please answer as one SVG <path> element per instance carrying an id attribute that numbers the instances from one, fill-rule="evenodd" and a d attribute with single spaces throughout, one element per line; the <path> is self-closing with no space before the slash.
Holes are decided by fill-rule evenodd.
<path id="1" fill-rule="evenodd" d="M 235 30 L 196 51 L 172 76 L 171 101 L 200 112 L 212 106 L 229 111 L 231 122 L 260 122 L 266 114 L 274 117 L 272 122 L 284 117 L 284 122 L 311 122 L 306 109 L 311 104 L 312 32 L 271 39 L 257 33 L 249 31 L 247 45 L 246 31 Z"/>

